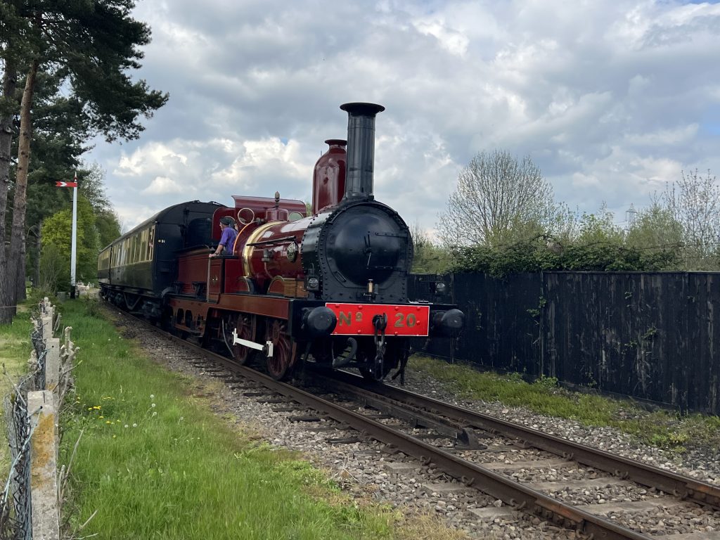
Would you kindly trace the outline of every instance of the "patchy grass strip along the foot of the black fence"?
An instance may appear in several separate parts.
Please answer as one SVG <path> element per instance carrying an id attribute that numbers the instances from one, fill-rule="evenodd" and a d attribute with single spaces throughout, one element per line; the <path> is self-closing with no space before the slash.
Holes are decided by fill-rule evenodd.
<path id="1" fill-rule="evenodd" d="M 667 410 L 649 413 L 630 401 L 600 395 L 568 392 L 552 377 L 524 382 L 520 374 L 478 372 L 466 364 L 415 355 L 411 369 L 444 384 L 447 391 L 472 400 L 499 401 L 549 416 L 577 420 L 585 426 L 611 426 L 642 441 L 683 452 L 693 444 L 720 444 L 720 418 L 699 414 L 679 415 Z"/>

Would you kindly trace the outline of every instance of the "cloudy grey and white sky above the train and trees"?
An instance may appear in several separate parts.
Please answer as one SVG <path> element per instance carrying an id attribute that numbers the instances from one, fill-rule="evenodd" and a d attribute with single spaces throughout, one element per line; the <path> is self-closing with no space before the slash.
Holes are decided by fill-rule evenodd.
<path id="1" fill-rule="evenodd" d="M 375 197 L 430 235 L 480 151 L 530 156 L 556 202 L 626 220 L 681 171 L 720 175 L 720 4 L 675 0 L 139 0 L 133 74 L 170 99 L 88 163 L 128 230 L 186 200 L 312 199 L 373 102 Z"/>

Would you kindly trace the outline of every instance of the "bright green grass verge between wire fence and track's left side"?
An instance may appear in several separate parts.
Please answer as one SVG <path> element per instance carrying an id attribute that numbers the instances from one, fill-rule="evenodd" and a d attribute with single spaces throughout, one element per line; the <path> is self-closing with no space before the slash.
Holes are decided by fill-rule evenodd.
<path id="1" fill-rule="evenodd" d="M 69 533 L 97 539 L 417 537 L 417 527 L 400 513 L 355 503 L 300 456 L 214 415 L 212 387 L 145 358 L 107 320 L 89 315 L 92 302 L 64 307 L 81 364 L 76 395 L 62 415 L 62 463 L 84 432 L 64 505 Z M 432 530 L 423 536 L 460 537 Z"/>

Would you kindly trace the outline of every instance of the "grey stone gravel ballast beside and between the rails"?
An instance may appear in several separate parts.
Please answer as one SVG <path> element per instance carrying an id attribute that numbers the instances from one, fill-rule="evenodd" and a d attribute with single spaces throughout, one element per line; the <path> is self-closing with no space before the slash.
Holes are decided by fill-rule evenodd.
<path id="1" fill-rule="evenodd" d="M 420 467 L 418 462 L 402 454 L 387 454 L 382 451 L 384 445 L 376 441 L 331 444 L 328 438 L 353 438 L 357 433 L 338 431 L 335 429 L 336 423 L 324 420 L 315 423 L 292 422 L 289 418 L 302 412 L 297 410 L 276 412 L 275 409 L 287 408 L 287 405 L 263 403 L 259 401 L 261 398 L 243 396 L 243 392 L 248 390 L 231 390 L 230 385 L 223 384 L 217 377 L 213 377 L 217 374 L 206 373 L 202 368 L 189 364 L 188 354 L 179 346 L 168 344 L 164 338 L 158 342 L 157 336 L 151 335 L 148 330 L 127 319 L 124 314 L 118 314 L 117 320 L 124 327 L 122 330 L 124 335 L 138 339 L 151 357 L 156 358 L 169 369 L 197 377 L 198 384 L 213 384 L 217 392 L 212 399 L 212 406 L 219 415 L 224 418 L 229 415 L 230 418 L 235 418 L 237 423 L 253 426 L 271 444 L 302 451 L 307 459 L 318 467 L 328 470 L 343 490 L 358 498 L 372 498 L 408 513 L 434 514 L 450 528 L 455 528 L 473 539 L 575 538 L 574 531 L 557 528 L 539 518 L 531 518 L 521 513 L 506 517 L 480 518 L 472 513 L 472 510 L 505 507 L 500 501 L 492 500 L 474 490 L 467 490 L 463 485 L 432 468 Z M 720 458 L 716 449 L 695 449 L 684 459 L 680 459 L 660 449 L 639 444 L 633 437 L 618 433 L 611 428 L 587 428 L 571 420 L 545 417 L 521 408 L 508 408 L 498 402 L 458 402 L 444 391 L 440 383 L 415 374 L 411 369 L 408 372 L 405 388 L 720 485 Z M 502 444 L 493 440 L 483 443 L 491 448 L 495 443 Z M 475 454 L 474 459 L 482 462 L 512 463 L 537 459 L 539 451 L 518 447 L 490 456 L 478 456 L 482 453 L 477 451 L 467 454 L 465 457 Z M 585 482 L 604 476 L 603 473 L 593 469 L 562 467 L 523 469 L 505 474 L 510 474 L 516 480 L 533 482 L 551 480 Z M 612 490 L 598 487 L 561 489 L 554 492 L 554 495 L 567 503 L 577 504 L 664 500 L 662 492 L 625 485 L 618 485 Z M 708 516 L 692 505 L 683 505 L 679 508 L 665 508 L 660 505 L 654 510 L 636 513 L 632 518 L 623 518 L 623 521 L 647 534 L 720 531 L 720 513 Z"/>

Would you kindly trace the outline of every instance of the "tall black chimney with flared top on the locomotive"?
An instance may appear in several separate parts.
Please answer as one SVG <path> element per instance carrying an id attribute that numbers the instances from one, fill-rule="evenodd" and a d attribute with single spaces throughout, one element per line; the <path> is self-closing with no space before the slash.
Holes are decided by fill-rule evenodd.
<path id="1" fill-rule="evenodd" d="M 375 115 L 385 110 L 374 103 L 346 103 L 348 157 L 343 202 L 372 198 L 375 161 Z"/>

